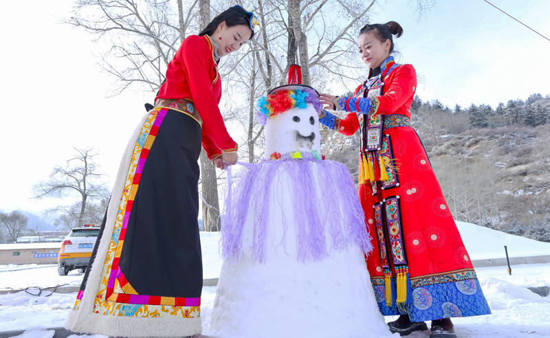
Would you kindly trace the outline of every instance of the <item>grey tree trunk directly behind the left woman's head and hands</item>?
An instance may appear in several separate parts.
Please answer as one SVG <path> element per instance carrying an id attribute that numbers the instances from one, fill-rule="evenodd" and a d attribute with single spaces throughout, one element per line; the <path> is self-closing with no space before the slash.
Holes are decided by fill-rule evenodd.
<path id="1" fill-rule="evenodd" d="M 201 30 L 210 23 L 210 0 L 199 0 L 199 20 Z M 218 231 L 216 223 L 219 218 L 218 183 L 216 181 L 216 167 L 210 162 L 204 150 L 201 151 L 201 185 L 204 201 L 202 202 L 203 230 L 207 232 Z M 215 208 L 215 209 L 214 209 Z"/>

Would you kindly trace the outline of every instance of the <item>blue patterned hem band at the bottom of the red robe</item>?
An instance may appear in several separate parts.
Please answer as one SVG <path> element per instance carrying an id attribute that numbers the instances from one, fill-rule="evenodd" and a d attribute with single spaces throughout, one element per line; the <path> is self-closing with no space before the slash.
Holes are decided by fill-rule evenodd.
<path id="1" fill-rule="evenodd" d="M 393 282 L 393 278 L 392 278 Z M 405 315 L 412 322 L 425 322 L 450 317 L 490 315 L 477 279 L 426 285 L 412 289 L 412 303 L 404 308 L 386 305 L 386 286 L 373 285 L 378 308 L 382 315 Z"/>

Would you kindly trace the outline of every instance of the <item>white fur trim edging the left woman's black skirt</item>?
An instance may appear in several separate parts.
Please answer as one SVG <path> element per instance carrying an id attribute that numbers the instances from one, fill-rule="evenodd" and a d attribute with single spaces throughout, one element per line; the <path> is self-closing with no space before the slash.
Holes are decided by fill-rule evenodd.
<path id="1" fill-rule="evenodd" d="M 94 302 L 99 291 L 103 262 L 107 256 L 109 243 L 115 227 L 115 220 L 120 205 L 120 196 L 128 175 L 135 142 L 140 136 L 149 113 L 142 118 L 132 134 L 116 175 L 111 201 L 107 208 L 107 222 L 101 237 L 96 259 L 91 265 L 86 289 L 78 311 L 71 311 L 65 323 L 67 330 L 83 333 L 95 333 L 111 337 L 181 337 L 201 333 L 201 318 L 144 318 L 100 315 L 94 313 Z"/>

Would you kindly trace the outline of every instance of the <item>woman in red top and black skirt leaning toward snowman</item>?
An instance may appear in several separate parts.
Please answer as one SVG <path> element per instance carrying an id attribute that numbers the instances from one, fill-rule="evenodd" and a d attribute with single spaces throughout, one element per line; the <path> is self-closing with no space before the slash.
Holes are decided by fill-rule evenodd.
<path id="1" fill-rule="evenodd" d="M 232 7 L 170 61 L 155 107 L 126 148 L 67 328 L 111 337 L 201 333 L 197 161 L 202 144 L 219 168 L 236 163 L 217 67 L 256 24 L 252 12 Z"/>

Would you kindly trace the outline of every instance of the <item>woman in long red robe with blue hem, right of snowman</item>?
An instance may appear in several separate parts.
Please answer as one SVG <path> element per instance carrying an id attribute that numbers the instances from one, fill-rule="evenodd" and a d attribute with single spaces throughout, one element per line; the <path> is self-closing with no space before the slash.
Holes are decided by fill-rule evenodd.
<path id="1" fill-rule="evenodd" d="M 412 65 L 390 56 L 395 21 L 366 25 L 358 38 L 367 80 L 353 97 L 321 94 L 330 109 L 319 122 L 344 135 L 360 130 L 359 196 L 376 249 L 366 259 L 383 315 L 399 315 L 388 325 L 408 335 L 456 337 L 450 317 L 489 314 L 470 256 L 463 245 L 439 183 L 415 130 L 410 104 L 417 87 Z"/>

